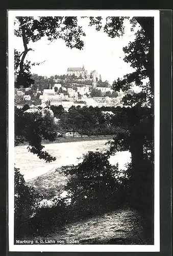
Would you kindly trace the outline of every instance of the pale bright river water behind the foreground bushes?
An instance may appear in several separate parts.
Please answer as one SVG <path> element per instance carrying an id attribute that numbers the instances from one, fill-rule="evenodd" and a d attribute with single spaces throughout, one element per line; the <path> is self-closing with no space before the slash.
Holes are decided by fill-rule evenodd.
<path id="1" fill-rule="evenodd" d="M 104 152 L 109 148 L 105 145 L 108 140 L 90 140 L 79 142 L 63 142 L 45 144 L 44 150 L 56 157 L 56 161 L 46 163 L 36 155 L 28 152 L 27 146 L 15 147 L 15 166 L 20 168 L 20 173 L 24 175 L 26 181 L 32 180 L 42 174 L 57 167 L 82 162 L 83 154 L 88 151 Z M 111 164 L 119 164 L 119 169 L 125 169 L 127 162 L 130 162 L 131 154 L 128 151 L 118 152 L 110 157 Z"/>

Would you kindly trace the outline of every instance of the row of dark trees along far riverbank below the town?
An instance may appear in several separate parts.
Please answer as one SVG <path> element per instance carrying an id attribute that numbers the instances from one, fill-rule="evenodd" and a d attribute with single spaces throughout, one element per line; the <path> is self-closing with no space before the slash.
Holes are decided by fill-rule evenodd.
<path id="1" fill-rule="evenodd" d="M 70 132 L 83 135 L 112 135 L 120 132 L 120 127 L 114 125 L 114 114 L 117 108 L 102 107 L 93 108 L 92 106 L 71 106 L 65 112 L 63 106 L 51 106 L 54 116 L 59 118 L 57 132 L 59 136 L 64 136 Z M 60 135 L 61 134 L 61 135 Z"/>

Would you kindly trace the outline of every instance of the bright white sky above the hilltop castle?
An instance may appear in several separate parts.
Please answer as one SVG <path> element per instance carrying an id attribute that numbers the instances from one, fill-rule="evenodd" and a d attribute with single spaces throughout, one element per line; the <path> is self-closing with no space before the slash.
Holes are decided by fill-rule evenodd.
<path id="1" fill-rule="evenodd" d="M 135 32 L 131 32 L 128 20 L 125 22 L 125 34 L 122 37 L 110 38 L 103 31 L 96 31 L 94 27 L 88 26 L 88 19 L 79 17 L 79 25 L 83 27 L 86 36 L 83 37 L 83 50 L 70 49 L 66 47 L 62 39 L 53 42 L 45 37 L 37 42 L 30 42 L 30 51 L 27 59 L 31 62 L 42 62 L 39 66 L 33 66 L 32 73 L 50 77 L 51 75 L 66 74 L 69 67 L 85 67 L 88 73 L 96 70 L 101 74 L 102 80 L 108 80 L 110 84 L 118 77 L 121 78 L 133 68 L 129 63 L 123 61 L 125 54 L 122 48 L 135 39 Z M 139 28 L 139 27 L 138 27 Z M 14 48 L 23 51 L 22 38 L 15 37 Z"/>

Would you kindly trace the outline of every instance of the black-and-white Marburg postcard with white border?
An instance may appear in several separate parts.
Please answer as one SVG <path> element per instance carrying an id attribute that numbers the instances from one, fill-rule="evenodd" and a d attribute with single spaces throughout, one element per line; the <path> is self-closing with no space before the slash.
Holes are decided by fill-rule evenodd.
<path id="1" fill-rule="evenodd" d="M 159 251 L 159 11 L 9 10 L 9 250 Z"/>

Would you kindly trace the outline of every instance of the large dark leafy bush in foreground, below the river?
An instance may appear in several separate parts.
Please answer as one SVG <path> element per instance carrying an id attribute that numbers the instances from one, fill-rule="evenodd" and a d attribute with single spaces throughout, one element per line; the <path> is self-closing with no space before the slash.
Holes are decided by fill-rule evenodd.
<path id="1" fill-rule="evenodd" d="M 126 201 L 127 174 L 109 163 L 106 153 L 88 152 L 82 163 L 63 170 L 74 218 L 115 209 Z M 104 192 L 104 193 L 103 193 Z"/>

